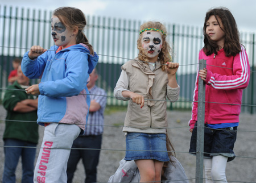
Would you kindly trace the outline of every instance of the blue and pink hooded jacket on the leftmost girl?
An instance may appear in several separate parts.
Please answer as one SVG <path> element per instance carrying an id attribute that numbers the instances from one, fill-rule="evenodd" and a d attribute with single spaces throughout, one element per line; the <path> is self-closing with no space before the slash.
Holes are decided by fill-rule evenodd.
<path id="1" fill-rule="evenodd" d="M 38 123 L 77 124 L 82 130 L 88 119 L 90 96 L 86 84 L 98 62 L 85 44 L 62 49 L 52 46 L 35 60 L 23 56 L 22 72 L 39 83 Z"/>

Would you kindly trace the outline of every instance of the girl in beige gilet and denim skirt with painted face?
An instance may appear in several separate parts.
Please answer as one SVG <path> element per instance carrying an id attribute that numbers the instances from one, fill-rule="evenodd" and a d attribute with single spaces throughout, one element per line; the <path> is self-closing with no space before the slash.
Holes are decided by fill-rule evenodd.
<path id="1" fill-rule="evenodd" d="M 160 182 L 163 164 L 170 161 L 166 149 L 166 98 L 175 102 L 179 97 L 179 64 L 171 62 L 166 27 L 160 22 L 142 24 L 137 47 L 138 57 L 122 65 L 114 89 L 117 99 L 129 100 L 123 127 L 125 160 L 135 160 L 141 182 Z"/>

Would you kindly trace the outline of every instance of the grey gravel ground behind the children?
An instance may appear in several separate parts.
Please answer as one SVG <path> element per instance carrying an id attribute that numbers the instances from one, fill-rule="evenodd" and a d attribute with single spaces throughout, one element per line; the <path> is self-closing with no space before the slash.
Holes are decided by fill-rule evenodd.
<path id="1" fill-rule="evenodd" d="M 102 151 L 100 155 L 100 163 L 98 165 L 98 182 L 108 182 L 109 177 L 114 174 L 119 166 L 125 151 L 125 137 L 122 132 L 123 119 L 125 118 L 125 111 L 118 111 L 112 114 L 105 115 L 105 128 L 102 142 Z M 4 119 L 6 115 L 5 109 L 0 106 L 0 119 Z M 168 111 L 169 127 L 183 127 L 183 128 L 170 128 L 168 133 L 171 142 L 174 144 L 176 157 L 183 165 L 187 177 L 195 182 L 196 172 L 196 157 L 189 155 L 189 140 L 191 133 L 188 131 L 188 120 L 191 117 L 190 111 Z M 237 142 L 234 147 L 236 157 L 233 161 L 229 162 L 226 167 L 226 176 L 229 182 L 256 182 L 256 115 L 241 114 L 240 115 L 240 130 L 237 134 Z M 114 127 L 113 127 L 114 126 Z M 0 182 L 2 182 L 3 172 L 3 130 L 5 123 L 0 121 Z M 43 138 L 43 128 L 39 127 L 40 139 Z M 39 142 L 40 144 L 40 142 Z M 251 158 L 247 158 L 251 157 Z M 73 183 L 84 182 L 85 174 L 84 167 L 80 161 Z M 20 163 L 16 170 L 16 182 L 21 180 L 21 166 Z"/>

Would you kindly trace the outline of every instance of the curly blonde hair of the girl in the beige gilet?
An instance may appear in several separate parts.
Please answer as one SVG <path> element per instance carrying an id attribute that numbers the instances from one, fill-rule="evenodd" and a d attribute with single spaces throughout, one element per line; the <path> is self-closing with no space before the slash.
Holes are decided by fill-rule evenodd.
<path id="1" fill-rule="evenodd" d="M 139 31 L 142 31 L 146 28 L 156 28 L 156 29 L 162 30 L 165 33 L 167 32 L 166 27 L 160 22 L 151 22 L 150 21 L 150 22 L 143 23 L 141 25 Z M 142 61 L 148 61 L 148 57 L 146 56 L 147 53 L 142 48 L 141 39 L 142 39 L 142 34 L 139 35 L 139 38 L 137 40 L 137 48 L 139 49 L 138 58 L 139 58 L 139 60 L 142 60 Z M 168 61 L 172 61 L 172 57 L 170 55 L 171 47 L 170 47 L 169 43 L 166 41 L 166 35 L 162 34 L 162 39 L 163 39 L 162 49 L 161 49 L 158 57 L 159 57 L 159 61 L 161 64 L 166 64 Z M 164 65 L 162 65 L 161 67 L 162 67 L 162 70 L 165 70 Z"/>

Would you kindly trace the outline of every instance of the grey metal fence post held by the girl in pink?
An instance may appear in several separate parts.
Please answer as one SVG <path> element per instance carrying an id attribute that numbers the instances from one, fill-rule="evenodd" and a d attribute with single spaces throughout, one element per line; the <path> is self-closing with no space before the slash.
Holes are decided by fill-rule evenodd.
<path id="1" fill-rule="evenodd" d="M 206 68 L 206 60 L 199 60 L 199 70 L 204 68 Z M 198 80 L 196 183 L 203 183 L 205 84 L 200 77 L 198 78 Z"/>

